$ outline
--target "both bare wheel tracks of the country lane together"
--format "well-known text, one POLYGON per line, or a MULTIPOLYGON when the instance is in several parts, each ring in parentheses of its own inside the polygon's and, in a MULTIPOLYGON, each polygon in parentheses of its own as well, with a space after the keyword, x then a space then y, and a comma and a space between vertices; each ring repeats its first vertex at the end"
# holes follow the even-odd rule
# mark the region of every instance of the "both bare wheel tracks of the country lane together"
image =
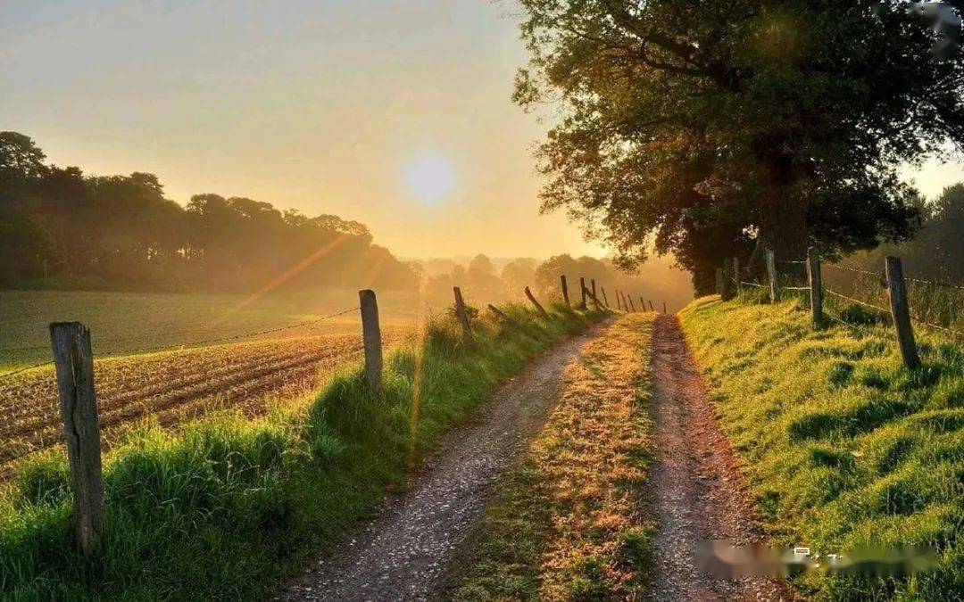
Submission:
MULTIPOLYGON (((471 424, 449 432, 403 495, 351 544, 319 560, 281 592, 284 600, 440 599, 461 573, 491 485, 520 456, 559 398, 562 375, 602 327, 550 350, 501 386, 471 424)), ((701 574, 700 539, 747 544, 760 529, 736 454, 719 431, 676 316, 656 319, 653 340, 658 454, 651 469, 658 522, 655 600, 790 599, 782 583, 725 582, 701 574)))

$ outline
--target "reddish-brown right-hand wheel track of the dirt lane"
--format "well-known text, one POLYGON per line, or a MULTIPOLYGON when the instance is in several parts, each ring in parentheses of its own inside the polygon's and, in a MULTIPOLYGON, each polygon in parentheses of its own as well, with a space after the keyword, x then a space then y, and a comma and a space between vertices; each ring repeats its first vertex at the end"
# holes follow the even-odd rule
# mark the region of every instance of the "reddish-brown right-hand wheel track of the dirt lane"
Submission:
POLYGON ((659 529, 654 600, 791 600, 786 582, 724 581, 700 571, 701 539, 763 540, 736 452, 720 432, 707 387, 676 316, 656 319, 653 378, 657 461, 651 470, 659 529))

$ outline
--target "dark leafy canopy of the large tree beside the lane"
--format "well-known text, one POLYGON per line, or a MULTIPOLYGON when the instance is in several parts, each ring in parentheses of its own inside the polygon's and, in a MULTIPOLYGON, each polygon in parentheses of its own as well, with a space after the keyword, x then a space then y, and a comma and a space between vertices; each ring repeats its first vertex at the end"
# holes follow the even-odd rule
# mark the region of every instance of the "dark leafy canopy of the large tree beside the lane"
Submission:
POLYGON ((964 57, 912 3, 521 0, 515 99, 549 103, 543 209, 622 265, 672 251, 699 274, 911 236, 897 168, 964 144, 964 57))

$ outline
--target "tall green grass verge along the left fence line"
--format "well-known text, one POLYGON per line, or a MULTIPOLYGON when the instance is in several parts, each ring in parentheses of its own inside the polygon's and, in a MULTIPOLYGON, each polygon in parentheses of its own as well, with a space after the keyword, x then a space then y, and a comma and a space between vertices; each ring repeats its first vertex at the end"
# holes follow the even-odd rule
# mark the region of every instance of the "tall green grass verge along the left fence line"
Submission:
POLYGON ((417 345, 388 354, 378 399, 354 369, 261 420, 223 414, 176 434, 130 432, 106 461, 94 562, 76 551, 65 458, 39 458, 0 492, 0 598, 263 596, 376 511, 498 380, 601 317, 507 313, 514 326, 480 320, 471 347, 450 321, 431 322, 417 345))

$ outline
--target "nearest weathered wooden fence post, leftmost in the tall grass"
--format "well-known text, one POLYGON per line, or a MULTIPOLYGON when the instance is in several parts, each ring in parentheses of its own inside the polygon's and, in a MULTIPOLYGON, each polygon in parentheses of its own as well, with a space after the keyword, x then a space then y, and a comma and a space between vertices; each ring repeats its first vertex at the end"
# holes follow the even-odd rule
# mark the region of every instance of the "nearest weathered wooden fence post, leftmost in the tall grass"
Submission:
POLYGON ((50 325, 50 345, 67 440, 77 540, 84 556, 90 558, 100 546, 104 527, 104 481, 91 331, 79 322, 55 322, 50 325))

